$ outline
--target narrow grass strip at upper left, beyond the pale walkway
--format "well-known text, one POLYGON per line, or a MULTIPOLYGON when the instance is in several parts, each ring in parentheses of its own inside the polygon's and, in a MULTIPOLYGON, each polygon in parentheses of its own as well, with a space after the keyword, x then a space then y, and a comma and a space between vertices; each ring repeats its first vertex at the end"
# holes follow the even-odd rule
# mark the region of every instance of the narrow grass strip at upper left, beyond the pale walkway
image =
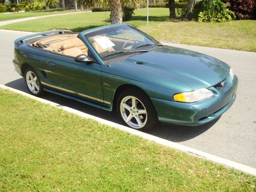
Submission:
POLYGON ((62 8, 58 9, 49 9, 49 10, 42 10, 42 11, 32 11, 32 12, 20 12, 20 13, 1 13, 0 14, 0 21, 12 20, 12 19, 21 19, 27 17, 37 17, 37 16, 44 16, 44 15, 54 15, 54 14, 62 14, 62 13, 69 13, 74 11, 65 11, 63 12, 62 8))

